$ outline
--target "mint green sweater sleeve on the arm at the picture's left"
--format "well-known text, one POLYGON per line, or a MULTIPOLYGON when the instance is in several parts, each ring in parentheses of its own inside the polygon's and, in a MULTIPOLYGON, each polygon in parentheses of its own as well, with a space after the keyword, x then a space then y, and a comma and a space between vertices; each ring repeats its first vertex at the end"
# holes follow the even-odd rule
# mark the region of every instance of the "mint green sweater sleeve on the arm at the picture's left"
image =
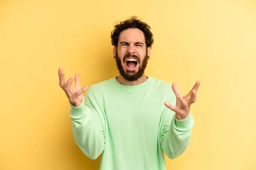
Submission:
POLYGON ((105 147, 104 128, 100 119, 102 113, 96 111, 88 94, 79 107, 71 104, 70 107, 72 132, 76 144, 88 158, 97 159, 105 147))

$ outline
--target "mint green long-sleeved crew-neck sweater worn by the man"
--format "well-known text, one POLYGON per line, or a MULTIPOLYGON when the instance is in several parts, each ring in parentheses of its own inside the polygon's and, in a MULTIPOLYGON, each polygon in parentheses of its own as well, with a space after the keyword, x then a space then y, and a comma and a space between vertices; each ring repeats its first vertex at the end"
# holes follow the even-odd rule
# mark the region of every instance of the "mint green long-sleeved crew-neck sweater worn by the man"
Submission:
POLYGON ((148 77, 121 85, 116 77, 91 85, 81 106, 71 106, 76 144, 100 170, 165 170, 164 154, 180 156, 190 143, 194 119, 183 120, 164 105, 176 104, 172 85, 148 77))

